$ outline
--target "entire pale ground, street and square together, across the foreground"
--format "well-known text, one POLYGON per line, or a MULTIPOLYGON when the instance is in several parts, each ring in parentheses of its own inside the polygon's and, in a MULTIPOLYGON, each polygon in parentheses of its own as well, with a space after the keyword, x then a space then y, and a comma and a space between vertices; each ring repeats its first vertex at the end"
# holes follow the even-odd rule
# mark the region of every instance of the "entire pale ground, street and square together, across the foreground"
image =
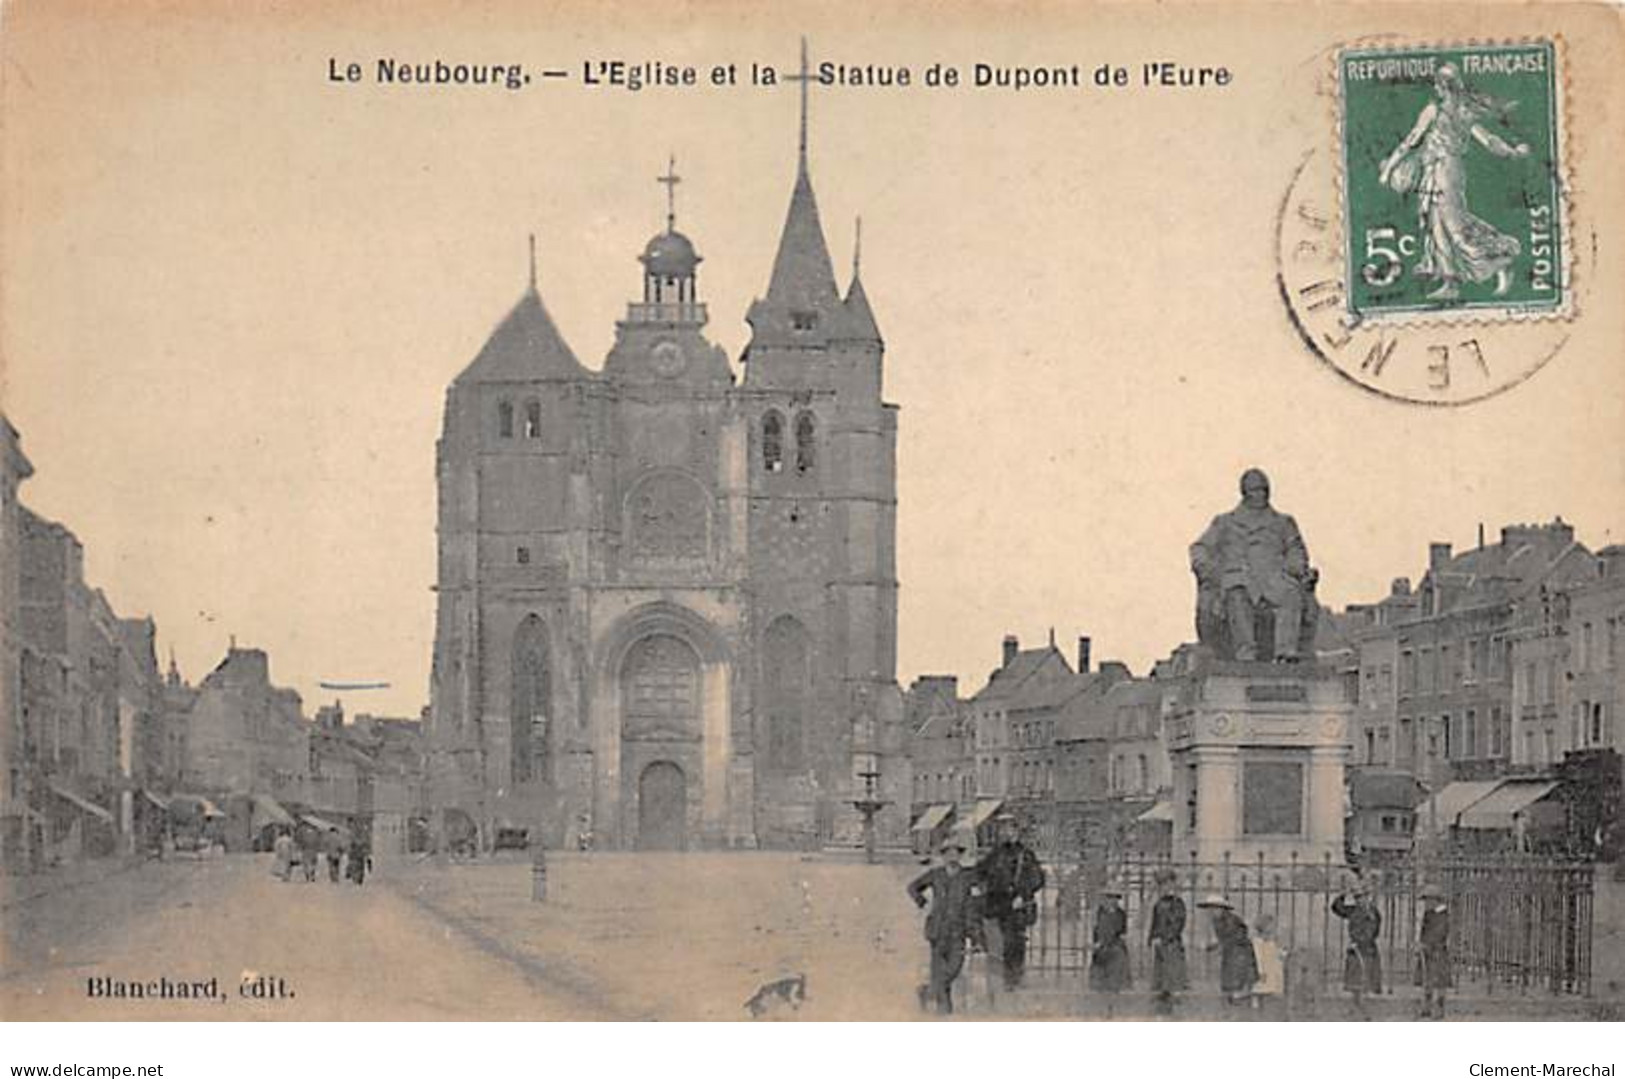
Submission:
MULTIPOLYGON (((913 863, 793 853, 562 853, 548 900, 523 856, 385 863, 364 887, 281 882, 268 856, 179 858, 6 897, 0 1017, 18 1019, 746 1019, 760 986, 803 978, 765 1017, 918 1019, 913 863), (93 998, 89 980, 214 980, 223 999, 93 998), (268 999, 244 996, 257 990, 268 999), (286 991, 286 996, 276 996, 286 991)), ((1458 994, 1453 1019, 1618 1016, 1622 889, 1599 882, 1596 996, 1458 994)), ((1150 1019, 1144 986, 1112 999, 1034 970, 988 999, 985 959, 956 988, 972 1019, 1150 1019)), ((1466 986, 1464 986, 1466 990, 1466 986)), ((1471 990, 1466 990, 1472 993, 1471 990)), ((1482 991, 1480 991, 1482 993, 1482 991)), ((1410 1019, 1409 986, 1373 1001, 1410 1019)), ((1193 991, 1181 1019, 1250 1019, 1193 991)), ((1349 1019, 1337 990, 1302 1019, 1349 1019)))

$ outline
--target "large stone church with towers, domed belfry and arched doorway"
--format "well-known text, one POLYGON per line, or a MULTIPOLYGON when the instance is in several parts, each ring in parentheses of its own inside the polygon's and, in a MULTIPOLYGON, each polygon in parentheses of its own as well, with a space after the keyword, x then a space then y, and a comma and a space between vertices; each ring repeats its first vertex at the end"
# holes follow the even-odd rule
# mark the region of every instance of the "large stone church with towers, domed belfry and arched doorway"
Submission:
POLYGON ((562 340, 533 268, 448 387, 442 842, 811 850, 860 843, 860 804, 879 842, 902 840, 897 408, 856 255, 845 294, 835 281, 806 124, 803 81, 790 210, 738 374, 705 336, 673 169, 603 367, 562 340))

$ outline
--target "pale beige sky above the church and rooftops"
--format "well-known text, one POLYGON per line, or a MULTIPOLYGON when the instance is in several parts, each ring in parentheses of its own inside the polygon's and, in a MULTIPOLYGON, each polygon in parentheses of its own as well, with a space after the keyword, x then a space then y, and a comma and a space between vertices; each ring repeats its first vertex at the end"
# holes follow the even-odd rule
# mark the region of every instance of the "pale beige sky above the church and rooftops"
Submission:
MULTIPOLYGON (((414 715, 434 634, 434 442, 447 384, 541 294, 592 367, 639 296, 684 177, 712 340, 736 359, 795 176, 778 88, 588 88, 624 58, 790 68, 1147 60, 1225 65, 1207 89, 814 88, 811 167, 845 283, 863 280, 900 406, 899 678, 977 687, 999 639, 1094 637, 1142 671, 1191 635, 1186 546, 1274 479, 1341 606, 1503 523, 1625 540, 1625 234, 1614 32, 1565 36, 1578 314, 1514 390, 1464 408, 1365 393, 1295 336, 1274 229, 1334 145, 1329 49, 1474 34, 1480 11, 866 8, 718 3, 10 5, 3 50, 0 401, 23 500, 84 543, 161 660, 202 678, 262 647, 309 708, 414 715), (1019 16, 1019 18, 1017 18, 1019 16), (1454 23, 1453 23, 1454 21, 1454 23), (1261 31, 1261 28, 1268 28, 1261 31), (522 91, 377 86, 379 57, 557 67, 522 91), (359 84, 328 78, 354 60, 359 84), (1607 193, 1614 192, 1614 198, 1607 193), (1597 239, 1601 237, 1601 239, 1597 239)), ((1488 333, 1505 333, 1490 327, 1488 333)), ((1516 341, 1513 343, 1516 348, 1516 341)), ((1069 652, 1069 645, 1068 652, 1069 652)))

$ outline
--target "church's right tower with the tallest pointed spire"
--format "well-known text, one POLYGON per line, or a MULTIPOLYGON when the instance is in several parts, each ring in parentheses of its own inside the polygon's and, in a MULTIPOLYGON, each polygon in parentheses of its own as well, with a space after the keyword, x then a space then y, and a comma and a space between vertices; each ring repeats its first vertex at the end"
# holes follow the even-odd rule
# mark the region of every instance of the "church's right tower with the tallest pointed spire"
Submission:
POLYGON ((897 410, 860 278, 842 297, 808 162, 806 44, 796 179, 767 294, 751 304, 741 410, 751 427, 757 642, 757 830, 852 842, 853 801, 907 829, 897 694, 897 410))

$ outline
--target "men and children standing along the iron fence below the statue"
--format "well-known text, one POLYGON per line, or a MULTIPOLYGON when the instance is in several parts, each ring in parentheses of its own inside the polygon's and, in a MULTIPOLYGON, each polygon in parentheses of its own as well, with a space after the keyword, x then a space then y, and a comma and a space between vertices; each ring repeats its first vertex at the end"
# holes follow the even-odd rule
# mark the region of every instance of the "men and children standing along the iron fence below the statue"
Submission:
MULTIPOLYGON (((920 986, 920 1006, 939 1014, 954 1011, 954 982, 968 951, 985 952, 996 964, 1004 988, 1022 983, 1027 959, 1027 931, 1037 921, 1037 897, 1045 886, 1038 856, 1020 840, 1014 821, 999 819, 998 843, 967 866, 965 845, 949 838, 938 864, 908 884, 916 905, 930 905, 925 936, 931 947, 930 982, 920 986), (930 895, 930 904, 928 897, 930 895)), ((1178 994, 1190 988, 1185 954, 1186 907, 1180 881, 1172 869, 1155 876, 1157 899, 1150 907, 1146 942, 1150 949, 1150 993, 1159 1016, 1172 1016, 1178 994)), ((1089 988, 1115 1011, 1120 993, 1133 985, 1128 949, 1129 920, 1121 886, 1108 882, 1095 908, 1089 954, 1089 988)), ((1422 918, 1417 939, 1417 985, 1424 990, 1422 1017, 1445 1017, 1445 994, 1451 985, 1450 905, 1438 886, 1422 889, 1422 918)), ((1224 895, 1209 894, 1198 904, 1207 912, 1209 942, 1217 952, 1219 990, 1230 1006, 1274 1016, 1287 991, 1287 949, 1276 939, 1276 918, 1259 913, 1248 923, 1224 895)), ((1332 899, 1331 913, 1347 923, 1344 988, 1354 996, 1362 1019, 1370 1017, 1367 998, 1383 991, 1378 941, 1383 916, 1368 881, 1332 899)), ((990 972, 990 982, 993 973, 990 972)))

